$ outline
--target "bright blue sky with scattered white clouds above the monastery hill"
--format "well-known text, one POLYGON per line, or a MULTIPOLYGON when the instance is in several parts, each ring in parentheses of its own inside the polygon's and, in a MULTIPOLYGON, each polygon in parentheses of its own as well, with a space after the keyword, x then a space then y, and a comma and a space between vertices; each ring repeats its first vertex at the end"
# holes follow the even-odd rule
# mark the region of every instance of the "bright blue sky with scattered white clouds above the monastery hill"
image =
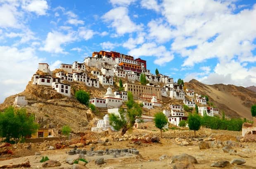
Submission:
POLYGON ((0 0, 0 102, 93 51, 147 60, 176 81, 256 85, 254 0, 0 0))

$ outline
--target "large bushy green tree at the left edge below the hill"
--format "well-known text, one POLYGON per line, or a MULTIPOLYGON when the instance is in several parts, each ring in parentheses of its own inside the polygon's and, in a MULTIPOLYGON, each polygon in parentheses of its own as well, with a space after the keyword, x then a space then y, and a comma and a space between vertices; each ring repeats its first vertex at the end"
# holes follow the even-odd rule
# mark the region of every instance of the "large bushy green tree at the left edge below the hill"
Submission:
POLYGON ((26 109, 14 109, 10 106, 0 113, 0 137, 6 142, 13 138, 17 143, 19 139, 35 133, 39 125, 34 122, 34 116, 26 113, 26 109))

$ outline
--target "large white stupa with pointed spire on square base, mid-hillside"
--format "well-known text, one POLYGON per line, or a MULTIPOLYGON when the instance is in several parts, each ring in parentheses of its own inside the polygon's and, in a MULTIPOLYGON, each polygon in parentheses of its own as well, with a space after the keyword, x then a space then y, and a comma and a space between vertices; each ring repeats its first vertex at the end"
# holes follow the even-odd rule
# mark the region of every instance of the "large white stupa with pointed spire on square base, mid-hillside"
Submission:
POLYGON ((103 99, 106 100, 108 107, 119 107, 123 104, 123 100, 116 98, 110 87, 107 88, 107 93, 104 95, 103 99))

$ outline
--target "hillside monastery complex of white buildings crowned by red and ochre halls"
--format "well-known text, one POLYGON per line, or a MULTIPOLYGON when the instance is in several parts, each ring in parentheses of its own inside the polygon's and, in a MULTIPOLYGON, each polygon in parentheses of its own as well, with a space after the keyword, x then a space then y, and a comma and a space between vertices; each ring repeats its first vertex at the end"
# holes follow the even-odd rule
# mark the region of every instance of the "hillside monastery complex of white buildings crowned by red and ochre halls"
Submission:
MULTIPOLYGON (((92 57, 84 59, 83 63, 73 62, 72 65, 61 64, 59 69, 50 71, 47 63, 39 63, 36 74, 33 75, 33 85, 51 86, 62 95, 71 96, 71 86, 67 83, 78 81, 86 86, 100 88, 109 86, 103 98, 91 98, 90 103, 96 107, 118 109, 123 102, 127 101, 128 91, 133 93, 141 101, 146 109, 161 107, 162 97, 169 97, 173 100, 183 100, 183 104, 189 107, 198 105, 199 113, 203 116, 218 114, 218 109, 206 106, 206 97, 195 94, 193 89, 183 89, 183 85, 173 82, 173 78, 159 74, 156 76, 147 69, 147 61, 140 58, 134 59, 118 52, 93 52, 92 57), (88 71, 89 70, 89 71, 88 71), (38 73, 38 72, 43 72, 38 73), (140 75, 145 74, 147 85, 141 85, 140 75), (115 79, 126 79, 123 84, 123 91, 112 91, 115 79), (136 83, 137 82, 137 83, 136 83), (186 98, 185 98, 186 96, 186 98)), ((23 97, 17 97, 15 104, 24 104, 23 97)), ((169 105, 168 110, 163 113, 168 118, 169 123, 178 125, 180 120, 186 119, 183 105, 169 105)), ((151 119, 151 117, 147 117, 151 119)), ((101 120, 97 127, 108 126, 108 116, 101 120), (104 122, 104 120, 106 122, 104 122)), ((96 127, 96 129, 97 129, 96 127)), ((96 130, 94 129, 94 130, 96 130)))

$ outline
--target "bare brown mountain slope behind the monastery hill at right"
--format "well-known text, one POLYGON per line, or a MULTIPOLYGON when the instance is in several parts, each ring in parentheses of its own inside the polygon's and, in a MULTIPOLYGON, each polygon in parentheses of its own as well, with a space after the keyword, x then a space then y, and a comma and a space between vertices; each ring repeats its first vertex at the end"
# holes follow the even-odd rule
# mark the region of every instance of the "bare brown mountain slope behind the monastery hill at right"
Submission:
POLYGON ((209 96, 209 104, 224 111, 230 118, 244 117, 252 120, 251 106, 256 103, 256 93, 242 86, 214 84, 206 85, 192 79, 185 83, 195 93, 209 96))

